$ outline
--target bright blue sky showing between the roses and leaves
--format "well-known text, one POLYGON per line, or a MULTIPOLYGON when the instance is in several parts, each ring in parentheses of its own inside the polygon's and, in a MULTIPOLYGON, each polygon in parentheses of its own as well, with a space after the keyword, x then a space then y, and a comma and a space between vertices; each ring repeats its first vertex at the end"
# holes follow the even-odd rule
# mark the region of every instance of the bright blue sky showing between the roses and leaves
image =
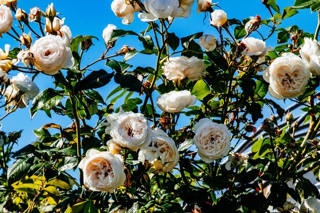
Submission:
MULTIPOLYGON (((29 13, 30 8, 34 6, 38 6, 42 11, 45 11, 48 4, 54 3, 54 6, 57 12, 60 12, 60 17, 65 17, 64 24, 69 26, 73 37, 77 35, 94 35, 99 38, 99 41, 94 40, 94 46, 90 48, 90 50, 85 53, 82 64, 85 65, 91 61, 99 58, 102 53, 105 51, 105 45, 102 38, 103 29, 109 24, 112 23, 118 27, 118 29, 125 30, 133 30, 135 32, 141 32, 148 27, 148 24, 139 20, 136 16, 133 23, 131 25, 123 25, 121 23, 121 18, 116 17, 110 9, 111 1, 82 1, 82 0, 41 0, 41 1, 33 1, 33 0, 19 0, 18 7, 24 9, 29 13)), ((278 0, 279 6, 281 8, 288 7, 293 5, 293 0, 278 0)), ((217 36, 217 32, 213 27, 209 25, 208 17, 204 20, 204 13, 196 14, 196 3, 192 8, 192 15, 190 18, 177 18, 174 20, 174 24, 170 28, 170 32, 175 32, 177 36, 184 37, 197 32, 204 32, 204 34, 213 34, 217 36)), ((243 18, 248 18, 249 16, 260 15, 262 18, 269 18, 270 14, 267 9, 261 4, 261 0, 247 0, 247 1, 225 1, 222 0, 219 3, 221 9, 223 9, 228 18, 237 18, 242 20, 243 18)), ((294 17, 288 18, 283 21, 281 27, 288 27, 291 25, 298 25, 301 29, 304 29, 305 32, 313 33, 317 23, 317 15, 316 13, 310 12, 310 10, 301 10, 299 11, 301 14, 298 14, 294 17)), ((17 22, 14 22, 15 24, 17 22)), ((36 27, 34 24, 33 26, 36 27)), ((15 27, 18 30, 17 26, 15 27)), ((231 30, 233 31, 233 30, 231 30)), ((262 32, 265 30, 261 29, 262 32)), ((19 31, 18 31, 19 32, 19 31)), ((29 32, 29 31, 26 31, 29 32)), ((254 36, 256 38, 260 38, 258 35, 254 36)), ((35 39, 35 36, 33 36, 35 39)), ((6 43, 11 44, 11 49, 14 47, 18 47, 18 43, 15 42, 10 36, 4 35, 3 38, 0 38, 0 48, 4 48, 6 43)), ((267 40, 268 46, 276 45, 276 37, 273 36, 271 39, 267 40)), ((125 37, 120 38, 117 41, 117 45, 113 50, 111 50, 110 54, 113 54, 119 50, 122 45, 128 44, 130 47, 136 48, 137 50, 141 50, 142 45, 136 40, 134 37, 125 37)), ((117 60, 122 60, 121 57, 118 57, 117 60)), ((152 56, 139 55, 135 58, 128 61, 128 63, 133 64, 135 66, 154 66, 155 59, 152 56)), ((104 62, 99 63, 92 67, 93 69, 104 68, 107 72, 111 72, 108 67, 104 66, 104 62)), ((11 72, 12 76, 17 73, 11 72)), ((52 79, 50 76, 39 75, 35 82, 40 87, 40 91, 53 87, 52 79)), ((112 86, 103 87, 99 91, 102 93, 102 96, 105 98, 107 94, 111 91, 112 86)), ((283 101, 279 101, 278 103, 283 103, 283 101)), ((13 114, 7 116, 3 121, 3 131, 19 131, 24 129, 22 133, 22 137, 19 140, 19 144, 16 149, 22 148, 27 144, 31 143, 36 139, 32 130, 38 129, 41 126, 47 123, 56 123, 60 124, 62 127, 66 127, 71 124, 72 121, 67 117, 62 117, 58 115, 54 115, 50 119, 44 112, 40 111, 34 117, 33 120, 30 119, 29 114, 30 106, 24 109, 18 109, 13 114)), ((3 109, 0 110, 0 115, 3 115, 3 109)), ((267 115, 269 116, 269 115, 267 115)), ((93 117, 93 123, 95 123, 95 117, 93 117)), ((180 120, 182 122, 182 120, 180 120)), ((89 122, 90 124, 90 122, 89 122)))

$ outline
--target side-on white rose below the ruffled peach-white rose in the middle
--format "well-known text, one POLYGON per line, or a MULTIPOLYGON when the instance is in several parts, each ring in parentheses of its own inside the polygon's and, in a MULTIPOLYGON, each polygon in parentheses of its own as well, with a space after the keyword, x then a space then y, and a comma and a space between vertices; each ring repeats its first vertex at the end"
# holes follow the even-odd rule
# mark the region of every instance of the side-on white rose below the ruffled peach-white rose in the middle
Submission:
POLYGON ((164 112, 180 112, 187 106, 195 104, 197 98, 190 91, 171 91, 157 98, 156 104, 164 112))

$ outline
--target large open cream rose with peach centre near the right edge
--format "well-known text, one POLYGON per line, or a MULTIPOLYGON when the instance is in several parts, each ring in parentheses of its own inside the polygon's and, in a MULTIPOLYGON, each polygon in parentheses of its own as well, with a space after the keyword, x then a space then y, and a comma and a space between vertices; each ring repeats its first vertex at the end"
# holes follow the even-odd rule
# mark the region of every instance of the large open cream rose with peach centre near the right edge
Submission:
POLYGON ((270 96, 279 100, 300 96, 309 78, 307 62, 293 53, 282 54, 263 72, 263 79, 270 84, 270 96))

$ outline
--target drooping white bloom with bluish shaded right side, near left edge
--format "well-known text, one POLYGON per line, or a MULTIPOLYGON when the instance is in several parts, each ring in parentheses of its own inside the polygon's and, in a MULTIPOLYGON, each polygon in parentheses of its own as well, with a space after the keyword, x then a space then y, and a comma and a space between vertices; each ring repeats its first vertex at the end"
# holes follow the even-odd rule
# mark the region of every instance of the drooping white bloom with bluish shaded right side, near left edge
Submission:
POLYGON ((18 73, 17 76, 12 77, 11 79, 12 86, 15 90, 20 90, 24 92, 22 95, 22 102, 28 106, 30 100, 34 99, 39 93, 39 87, 31 81, 29 76, 18 73))

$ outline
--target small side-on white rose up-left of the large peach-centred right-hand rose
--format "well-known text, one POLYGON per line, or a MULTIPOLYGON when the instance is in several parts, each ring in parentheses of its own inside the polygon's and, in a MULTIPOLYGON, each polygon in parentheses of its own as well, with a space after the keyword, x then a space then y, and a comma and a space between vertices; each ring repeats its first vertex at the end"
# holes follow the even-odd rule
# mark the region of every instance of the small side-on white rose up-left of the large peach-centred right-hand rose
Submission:
POLYGON ((246 49, 242 52, 242 54, 246 54, 247 56, 264 57, 270 50, 272 50, 270 46, 266 47, 265 42, 261 39, 248 37, 242 39, 241 42, 246 45, 246 49))

